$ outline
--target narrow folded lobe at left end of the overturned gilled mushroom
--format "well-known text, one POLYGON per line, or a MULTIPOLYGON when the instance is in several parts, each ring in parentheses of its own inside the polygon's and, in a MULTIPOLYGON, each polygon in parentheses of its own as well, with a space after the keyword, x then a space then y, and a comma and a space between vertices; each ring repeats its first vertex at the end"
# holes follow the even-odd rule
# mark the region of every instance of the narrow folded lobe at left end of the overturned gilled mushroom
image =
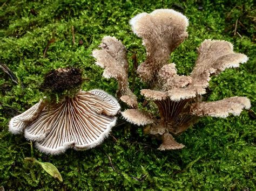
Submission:
POLYGON ((22 114, 11 118, 11 121, 9 122, 9 131, 13 134, 22 133, 26 125, 28 125, 30 121, 33 121, 44 107, 45 102, 40 100, 22 114))

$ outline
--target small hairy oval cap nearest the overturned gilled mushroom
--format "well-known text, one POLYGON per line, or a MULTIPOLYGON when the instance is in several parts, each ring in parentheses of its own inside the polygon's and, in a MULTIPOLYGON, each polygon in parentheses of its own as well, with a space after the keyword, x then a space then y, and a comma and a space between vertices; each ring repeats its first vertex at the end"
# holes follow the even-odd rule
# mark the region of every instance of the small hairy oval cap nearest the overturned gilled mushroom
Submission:
POLYGON ((138 109, 127 109, 121 112, 122 116, 127 122, 135 125, 147 125, 154 122, 150 112, 142 111, 138 109))

